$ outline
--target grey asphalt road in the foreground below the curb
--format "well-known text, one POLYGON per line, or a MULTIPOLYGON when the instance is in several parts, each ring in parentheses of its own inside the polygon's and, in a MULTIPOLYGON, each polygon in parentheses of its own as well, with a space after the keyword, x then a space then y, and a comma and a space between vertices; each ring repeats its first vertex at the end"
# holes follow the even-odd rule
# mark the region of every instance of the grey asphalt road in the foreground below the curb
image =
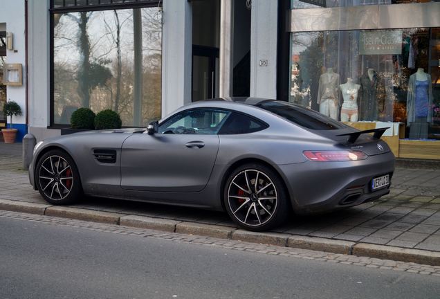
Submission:
POLYGON ((439 298, 440 278, 0 218, 0 298, 439 298))

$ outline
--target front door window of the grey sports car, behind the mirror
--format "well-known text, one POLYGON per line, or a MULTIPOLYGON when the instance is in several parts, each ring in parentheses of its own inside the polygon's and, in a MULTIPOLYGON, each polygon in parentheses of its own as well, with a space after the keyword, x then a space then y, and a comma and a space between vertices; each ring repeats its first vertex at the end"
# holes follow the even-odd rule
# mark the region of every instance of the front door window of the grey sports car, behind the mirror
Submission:
POLYGON ((159 134, 217 134, 230 111, 194 109, 183 111, 159 126, 159 134))

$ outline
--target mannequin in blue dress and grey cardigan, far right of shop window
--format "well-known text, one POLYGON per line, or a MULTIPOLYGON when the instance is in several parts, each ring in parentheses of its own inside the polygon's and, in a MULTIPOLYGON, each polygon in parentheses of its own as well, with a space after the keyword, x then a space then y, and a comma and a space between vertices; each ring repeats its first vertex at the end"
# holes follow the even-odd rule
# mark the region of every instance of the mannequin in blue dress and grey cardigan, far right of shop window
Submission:
POLYGON ((407 126, 410 139, 428 138, 428 123, 432 123, 432 81, 423 68, 410 75, 406 98, 407 126))

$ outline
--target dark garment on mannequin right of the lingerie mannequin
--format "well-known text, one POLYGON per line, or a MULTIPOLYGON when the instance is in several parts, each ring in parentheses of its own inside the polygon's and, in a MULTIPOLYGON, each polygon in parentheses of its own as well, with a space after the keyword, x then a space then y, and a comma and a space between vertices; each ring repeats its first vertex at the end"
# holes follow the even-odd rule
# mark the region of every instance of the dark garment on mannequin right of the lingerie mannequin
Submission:
POLYGON ((370 80, 365 72, 360 77, 359 120, 378 120, 377 93, 379 80, 376 71, 370 80))

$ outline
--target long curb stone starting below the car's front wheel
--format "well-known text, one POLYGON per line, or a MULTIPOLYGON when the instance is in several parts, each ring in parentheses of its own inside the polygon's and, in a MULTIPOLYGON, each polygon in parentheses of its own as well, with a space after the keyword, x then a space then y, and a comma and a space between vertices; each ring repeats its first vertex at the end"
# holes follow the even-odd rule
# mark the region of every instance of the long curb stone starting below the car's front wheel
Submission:
POLYGON ((64 206, 51 206, 49 208, 46 208, 44 215, 101 222, 106 224, 119 224, 120 217, 124 216, 122 214, 117 214, 113 212, 101 212, 96 210, 86 210, 64 206))

